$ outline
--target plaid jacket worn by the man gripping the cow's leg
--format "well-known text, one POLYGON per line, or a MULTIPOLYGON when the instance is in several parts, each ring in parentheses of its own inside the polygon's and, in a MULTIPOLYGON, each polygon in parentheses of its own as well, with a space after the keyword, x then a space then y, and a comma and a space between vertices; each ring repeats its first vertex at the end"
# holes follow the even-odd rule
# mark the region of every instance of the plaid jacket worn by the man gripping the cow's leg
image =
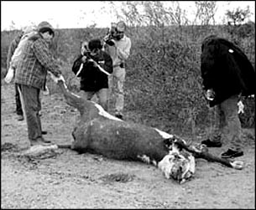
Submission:
POLYGON ((38 33, 24 44, 14 82, 45 90, 47 70, 60 74, 60 67, 50 53, 49 45, 38 33))

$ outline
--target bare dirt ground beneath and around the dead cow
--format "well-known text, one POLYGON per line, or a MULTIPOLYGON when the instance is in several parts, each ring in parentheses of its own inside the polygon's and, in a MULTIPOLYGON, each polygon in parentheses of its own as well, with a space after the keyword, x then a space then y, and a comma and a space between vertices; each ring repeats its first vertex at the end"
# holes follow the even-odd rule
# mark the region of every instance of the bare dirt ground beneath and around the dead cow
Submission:
MULTIPOLYGON (((29 141, 25 121, 16 120, 13 85, 1 89, 1 208, 255 208, 254 130, 244 130, 243 170, 198 159, 195 177, 182 185, 145 163, 69 149, 29 161, 19 155, 29 141)), ((69 144, 79 113, 62 95, 43 95, 42 106, 45 138, 69 144)))

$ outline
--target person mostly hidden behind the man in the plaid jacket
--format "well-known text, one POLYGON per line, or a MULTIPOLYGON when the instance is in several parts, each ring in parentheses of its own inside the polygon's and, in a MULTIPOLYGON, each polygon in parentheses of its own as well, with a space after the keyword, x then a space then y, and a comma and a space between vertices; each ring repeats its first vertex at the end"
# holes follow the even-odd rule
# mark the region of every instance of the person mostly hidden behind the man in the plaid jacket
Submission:
MULTIPOLYGON (((10 67, 10 62, 11 59, 13 57, 14 51, 15 49, 17 49, 18 47, 18 43, 20 41, 20 39, 23 37, 24 32, 19 33, 11 42, 11 44, 9 45, 8 48, 8 55, 7 55, 7 69, 9 69, 10 67)), ((17 120, 24 120, 24 112, 22 110, 22 105, 21 105, 21 101, 20 101, 20 97, 19 97, 19 93, 18 93, 18 85, 15 84, 15 102, 16 102, 16 114, 18 115, 17 120)))

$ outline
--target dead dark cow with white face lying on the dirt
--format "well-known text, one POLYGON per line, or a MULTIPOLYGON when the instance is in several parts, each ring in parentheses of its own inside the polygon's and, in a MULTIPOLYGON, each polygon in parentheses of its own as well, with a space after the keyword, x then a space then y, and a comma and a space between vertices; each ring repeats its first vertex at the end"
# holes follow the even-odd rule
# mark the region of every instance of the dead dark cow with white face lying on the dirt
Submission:
POLYGON ((185 182, 195 173, 195 156, 236 169, 243 162, 212 156, 206 149, 188 146, 178 136, 156 128, 120 120, 101 105, 84 100, 67 89, 63 77, 52 78, 60 86, 68 105, 80 111, 81 119, 72 136, 71 149, 92 152, 118 160, 145 161, 158 166, 166 178, 185 182))

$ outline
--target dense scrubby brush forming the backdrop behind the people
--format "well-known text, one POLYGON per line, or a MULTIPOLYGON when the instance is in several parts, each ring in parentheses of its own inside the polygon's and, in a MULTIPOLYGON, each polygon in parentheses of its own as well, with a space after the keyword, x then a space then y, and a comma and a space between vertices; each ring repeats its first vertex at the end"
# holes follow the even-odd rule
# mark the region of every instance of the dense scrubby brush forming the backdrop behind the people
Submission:
MULTIPOLYGON (((240 39, 240 46, 254 65, 254 30, 240 39)), ((57 29, 52 49, 63 66, 69 88, 78 91, 71 66, 80 53, 82 40, 103 38, 107 28, 57 29)), ((193 135, 210 123, 208 106, 202 96, 200 54, 201 42, 209 34, 223 38, 232 36, 223 26, 133 27, 128 28, 132 40, 125 82, 125 110, 136 113, 133 120, 193 135)), ((13 32, 2 32, 2 66, 13 32), (12 34, 12 35, 11 35, 12 34)), ((49 79, 51 92, 58 91, 49 79)), ((254 123, 253 102, 240 116, 243 127, 254 123)), ((132 117, 132 116, 131 116, 132 117)))

